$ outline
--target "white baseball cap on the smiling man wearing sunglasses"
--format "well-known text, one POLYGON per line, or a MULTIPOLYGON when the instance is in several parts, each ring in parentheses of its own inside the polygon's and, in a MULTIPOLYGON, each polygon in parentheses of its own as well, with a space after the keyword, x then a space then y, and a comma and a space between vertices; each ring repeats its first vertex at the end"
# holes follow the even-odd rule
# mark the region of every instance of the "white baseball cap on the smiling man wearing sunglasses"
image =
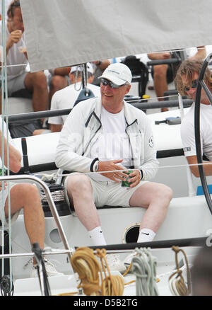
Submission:
POLYGON ((110 64, 99 79, 104 78, 120 86, 126 82, 131 83, 131 77, 129 67, 127 67, 126 64, 117 62, 115 64, 110 64))

